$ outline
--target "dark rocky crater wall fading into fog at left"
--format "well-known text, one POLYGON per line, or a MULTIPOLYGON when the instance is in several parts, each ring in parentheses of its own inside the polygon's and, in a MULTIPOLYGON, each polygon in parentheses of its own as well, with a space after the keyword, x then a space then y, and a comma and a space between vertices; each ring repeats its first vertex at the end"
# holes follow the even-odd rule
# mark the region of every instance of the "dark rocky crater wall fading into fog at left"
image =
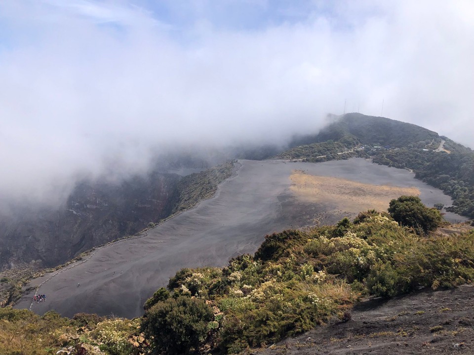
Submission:
POLYGON ((171 213, 180 178, 152 173, 120 184, 82 182, 59 208, 0 217, 0 267, 34 260, 41 267, 55 266, 132 235, 171 213))

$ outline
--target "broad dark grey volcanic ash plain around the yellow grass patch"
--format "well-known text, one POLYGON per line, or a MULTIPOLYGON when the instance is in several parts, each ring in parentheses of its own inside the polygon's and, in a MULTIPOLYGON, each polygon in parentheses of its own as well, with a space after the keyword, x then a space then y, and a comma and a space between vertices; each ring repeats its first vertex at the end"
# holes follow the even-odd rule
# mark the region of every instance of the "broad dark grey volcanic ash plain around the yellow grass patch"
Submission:
MULTIPOLYGON (((316 164, 239 162, 238 175, 224 181, 216 196, 197 208, 150 230, 146 237, 98 249, 84 263, 33 280, 29 286, 44 282, 38 293, 46 294, 47 301, 34 303, 32 311, 43 314, 54 309, 67 317, 78 312, 137 317, 143 314, 146 299, 183 267, 224 266, 230 257, 253 253, 266 234, 314 224, 316 216, 321 224, 330 224, 359 212, 298 201, 289 191, 289 176, 296 169, 358 182, 415 186, 429 206, 452 203, 449 196, 406 170, 361 158, 316 164), (324 213, 325 209, 336 209, 337 213, 324 213)), ((453 214, 447 217, 464 220, 453 214)), ((15 307, 29 308, 34 293, 25 295, 15 307)))

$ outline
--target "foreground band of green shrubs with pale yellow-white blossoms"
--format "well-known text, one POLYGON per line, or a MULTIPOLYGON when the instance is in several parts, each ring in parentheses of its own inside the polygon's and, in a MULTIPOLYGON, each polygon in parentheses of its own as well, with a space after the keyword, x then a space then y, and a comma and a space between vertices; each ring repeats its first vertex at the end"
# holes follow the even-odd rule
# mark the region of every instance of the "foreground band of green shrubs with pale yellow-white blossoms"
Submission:
POLYGON ((471 283, 473 245, 473 231, 420 236, 388 213, 367 211, 268 235, 253 256, 224 268, 182 269, 134 320, 0 309, 0 354, 237 353, 348 320, 361 295, 471 283))

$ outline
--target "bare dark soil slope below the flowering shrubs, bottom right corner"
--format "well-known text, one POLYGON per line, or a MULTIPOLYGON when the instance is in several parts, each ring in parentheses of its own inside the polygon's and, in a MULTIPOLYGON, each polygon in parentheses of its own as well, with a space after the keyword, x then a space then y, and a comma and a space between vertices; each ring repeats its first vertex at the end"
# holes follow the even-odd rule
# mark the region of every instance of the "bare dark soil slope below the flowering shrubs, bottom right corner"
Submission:
POLYGON ((474 354, 474 286, 422 290, 361 302, 347 322, 333 322, 259 355, 474 354))

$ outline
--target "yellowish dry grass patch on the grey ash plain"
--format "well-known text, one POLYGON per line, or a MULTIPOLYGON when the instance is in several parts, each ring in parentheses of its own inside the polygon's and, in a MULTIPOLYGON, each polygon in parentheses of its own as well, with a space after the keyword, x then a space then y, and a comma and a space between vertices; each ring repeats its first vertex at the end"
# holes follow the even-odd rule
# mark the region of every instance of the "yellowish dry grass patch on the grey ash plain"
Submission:
POLYGON ((389 202, 401 195, 418 196, 416 187, 374 185, 344 178, 309 175, 293 171, 290 190, 302 202, 336 206, 334 210, 357 213, 375 209, 386 211, 389 202))

